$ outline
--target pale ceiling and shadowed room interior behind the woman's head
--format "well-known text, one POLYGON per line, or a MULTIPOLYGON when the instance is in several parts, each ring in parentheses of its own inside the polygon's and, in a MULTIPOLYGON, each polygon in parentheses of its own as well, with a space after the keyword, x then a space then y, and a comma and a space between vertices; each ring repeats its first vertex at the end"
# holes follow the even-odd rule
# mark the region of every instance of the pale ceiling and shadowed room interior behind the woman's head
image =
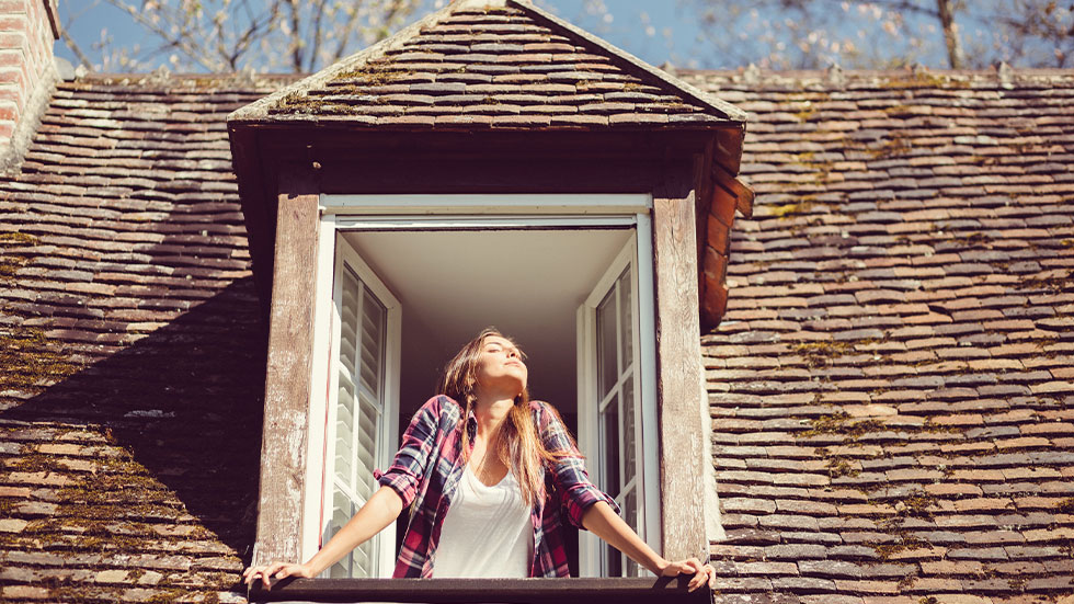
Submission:
POLYGON ((402 305, 400 429, 443 366, 495 326, 527 354, 533 398, 576 429, 578 307, 632 229, 350 231, 402 305))

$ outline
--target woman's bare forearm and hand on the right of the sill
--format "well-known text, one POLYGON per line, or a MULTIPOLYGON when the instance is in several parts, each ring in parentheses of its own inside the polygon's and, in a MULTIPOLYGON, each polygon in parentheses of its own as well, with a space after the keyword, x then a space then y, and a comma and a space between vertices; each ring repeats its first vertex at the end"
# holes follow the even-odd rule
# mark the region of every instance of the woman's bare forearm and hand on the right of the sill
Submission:
POLYGON ((598 501, 586 508, 582 515, 582 525, 586 531, 601 537, 619 551, 626 554, 631 560, 649 569, 656 577, 677 577, 679 574, 693 574, 688 589, 694 591, 709 583, 710 589, 716 588, 716 569, 711 565, 702 565, 697 558, 672 562, 660 556, 649 544, 641 540, 641 537, 624 522, 612 508, 598 501))

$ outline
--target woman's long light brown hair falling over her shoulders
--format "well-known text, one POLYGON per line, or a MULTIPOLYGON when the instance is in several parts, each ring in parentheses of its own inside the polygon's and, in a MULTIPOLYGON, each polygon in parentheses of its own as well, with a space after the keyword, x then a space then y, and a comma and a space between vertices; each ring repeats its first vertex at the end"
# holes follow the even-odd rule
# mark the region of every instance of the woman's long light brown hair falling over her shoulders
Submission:
MULTIPOLYGON (((498 337, 511 341, 495 328, 485 328, 477 338, 470 340, 444 368, 437 392, 454 399, 462 408, 462 421, 469 417, 477 402, 478 356, 488 338, 498 337)), ((513 343, 513 342, 512 342, 513 343)), ((519 353, 521 354, 521 353, 519 353)), ((555 412, 555 411, 553 411, 555 412)), ((505 466, 511 468, 522 486, 523 499, 533 504, 545 495, 545 463, 555 461, 571 452, 551 452, 545 448, 529 409, 529 390, 523 388, 515 397, 515 403, 501 424, 494 440, 489 443, 492 452, 505 466)), ((470 433, 462 429, 462 461, 470 455, 470 433)))

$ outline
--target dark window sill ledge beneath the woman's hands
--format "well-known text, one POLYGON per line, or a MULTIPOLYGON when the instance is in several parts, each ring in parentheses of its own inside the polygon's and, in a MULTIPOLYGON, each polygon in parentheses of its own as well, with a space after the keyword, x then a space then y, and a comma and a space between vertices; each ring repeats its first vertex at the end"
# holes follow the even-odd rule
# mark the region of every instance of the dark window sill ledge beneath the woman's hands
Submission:
POLYGON ((676 579, 298 579, 265 591, 251 602, 427 602, 503 604, 707 604, 712 592, 686 591, 676 579))

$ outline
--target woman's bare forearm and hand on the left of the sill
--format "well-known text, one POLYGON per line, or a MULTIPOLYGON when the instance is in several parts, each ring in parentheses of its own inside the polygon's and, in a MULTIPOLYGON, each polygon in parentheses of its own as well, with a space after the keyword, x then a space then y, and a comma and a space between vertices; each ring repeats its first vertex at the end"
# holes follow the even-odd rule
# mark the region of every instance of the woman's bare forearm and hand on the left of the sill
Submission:
POLYGON ((305 565, 288 562, 270 562, 263 566, 250 567, 242 573, 248 585, 259 578, 265 589, 271 588, 271 580, 287 577, 317 577, 324 569, 334 565, 352 549, 373 538, 385 529, 402 513, 402 498, 391 487, 380 487, 373 493, 369 501, 354 514, 343 528, 340 529, 312 558, 305 565))

